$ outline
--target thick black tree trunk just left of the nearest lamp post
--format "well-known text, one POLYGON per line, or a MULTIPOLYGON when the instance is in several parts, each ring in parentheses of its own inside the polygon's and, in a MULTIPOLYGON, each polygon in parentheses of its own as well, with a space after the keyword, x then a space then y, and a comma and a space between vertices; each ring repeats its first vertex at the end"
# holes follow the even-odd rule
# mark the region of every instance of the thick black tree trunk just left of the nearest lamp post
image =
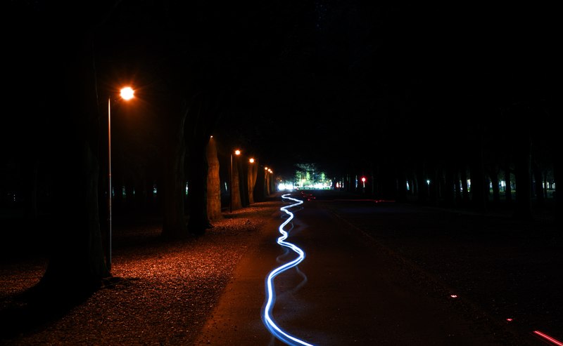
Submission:
MULTIPOLYGON (((51 215, 45 227, 50 235, 49 264, 36 288, 68 300, 83 298, 96 290, 103 278, 110 277, 110 272, 103 257, 99 227, 99 160, 92 150, 97 147, 96 131, 100 130, 98 114, 93 112, 96 93, 91 47, 77 47, 69 42, 63 48, 78 51, 72 50, 73 54, 68 55, 61 52, 61 60, 56 63, 63 66, 49 66, 58 74, 51 81, 64 83, 51 89, 64 95, 65 107, 53 105, 51 109, 57 109, 57 114, 42 114, 50 118, 52 126, 44 129, 50 140, 41 144, 52 145, 44 152, 51 155, 46 162, 51 165, 53 191, 51 215), (80 60, 63 59, 77 56, 77 52, 80 60), (71 186, 73 193, 61 188, 65 186, 71 186)), ((60 95, 51 96, 53 102, 61 101, 60 95)))

